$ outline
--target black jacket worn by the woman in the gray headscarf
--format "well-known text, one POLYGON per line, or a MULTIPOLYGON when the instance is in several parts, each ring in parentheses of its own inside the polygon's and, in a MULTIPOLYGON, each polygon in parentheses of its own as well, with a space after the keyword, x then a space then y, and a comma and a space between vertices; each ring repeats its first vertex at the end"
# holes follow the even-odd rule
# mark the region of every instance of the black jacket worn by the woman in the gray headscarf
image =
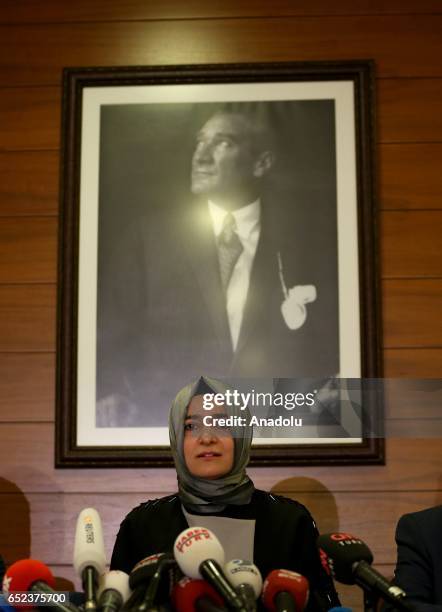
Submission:
MULTIPOLYGON (((302 504, 255 490, 250 504, 228 506, 217 516, 255 519, 253 562, 263 578, 273 569, 296 571, 309 580, 310 591, 323 598, 326 609, 340 605, 320 563, 315 522, 302 504)), ((187 527, 177 495, 140 504, 121 523, 111 569, 130 573, 141 559, 172 552, 175 538, 187 527)), ((314 597, 310 602, 308 610, 319 609, 314 597)))

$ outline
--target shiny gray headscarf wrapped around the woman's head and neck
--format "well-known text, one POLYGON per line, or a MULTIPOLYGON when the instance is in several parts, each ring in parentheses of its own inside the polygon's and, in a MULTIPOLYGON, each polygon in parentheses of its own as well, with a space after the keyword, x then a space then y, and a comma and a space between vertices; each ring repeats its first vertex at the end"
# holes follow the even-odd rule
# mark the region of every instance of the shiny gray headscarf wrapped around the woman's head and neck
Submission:
MULTIPOLYGON (((192 398, 204 393, 225 394, 227 389, 220 381, 204 376, 181 389, 172 402, 169 413, 170 446, 178 475, 180 498, 190 512, 209 514, 222 511, 228 504, 248 504, 254 491, 253 482, 246 474, 253 435, 250 426, 231 428, 235 452, 232 470, 225 476, 214 480, 193 476, 184 459, 184 421, 192 398)), ((225 411, 229 416, 250 418, 248 408, 240 410, 239 406, 226 405, 225 411)))

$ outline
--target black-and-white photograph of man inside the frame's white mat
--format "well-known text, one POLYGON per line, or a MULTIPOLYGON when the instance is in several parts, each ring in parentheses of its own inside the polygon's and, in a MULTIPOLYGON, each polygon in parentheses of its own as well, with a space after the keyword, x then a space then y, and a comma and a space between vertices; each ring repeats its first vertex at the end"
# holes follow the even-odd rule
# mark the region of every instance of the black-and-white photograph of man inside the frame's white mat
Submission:
POLYGON ((109 105, 100 151, 98 426, 339 372, 333 101, 109 105))

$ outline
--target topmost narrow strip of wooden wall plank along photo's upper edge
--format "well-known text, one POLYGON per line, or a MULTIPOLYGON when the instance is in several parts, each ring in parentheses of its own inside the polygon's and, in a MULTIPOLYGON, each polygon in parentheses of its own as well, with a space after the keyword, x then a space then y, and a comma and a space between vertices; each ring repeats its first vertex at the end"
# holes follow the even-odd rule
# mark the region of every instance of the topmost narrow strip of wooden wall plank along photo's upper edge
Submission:
POLYGON ((203 2, 163 0, 76 0, 72 3, 46 0, 33 10, 32 0, 2 0, 0 23, 38 23, 70 21, 134 21, 140 19, 191 19, 220 17, 264 17, 275 15, 382 15, 441 13, 439 0, 223 0, 203 2))

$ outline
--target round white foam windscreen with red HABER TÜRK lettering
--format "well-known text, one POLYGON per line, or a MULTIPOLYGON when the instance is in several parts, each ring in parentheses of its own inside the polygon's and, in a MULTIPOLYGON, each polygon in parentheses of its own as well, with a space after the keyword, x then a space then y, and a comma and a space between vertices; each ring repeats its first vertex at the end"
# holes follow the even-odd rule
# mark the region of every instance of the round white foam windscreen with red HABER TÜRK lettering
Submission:
POLYGON ((214 559, 221 567, 225 561, 220 541, 206 527, 189 527, 182 531, 175 540, 173 553, 183 574, 190 578, 202 578, 199 567, 207 559, 214 559))

